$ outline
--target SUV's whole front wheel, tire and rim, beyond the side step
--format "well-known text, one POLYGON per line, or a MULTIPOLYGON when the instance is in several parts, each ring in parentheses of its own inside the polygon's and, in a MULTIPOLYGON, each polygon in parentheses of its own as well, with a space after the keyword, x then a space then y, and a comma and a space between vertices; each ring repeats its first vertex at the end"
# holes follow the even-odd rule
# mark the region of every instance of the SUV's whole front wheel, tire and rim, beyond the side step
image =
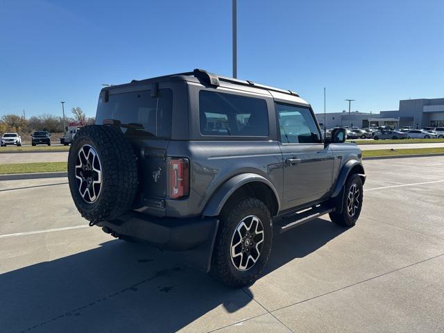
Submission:
POLYGON ((330 213, 330 219, 336 224, 352 227, 361 214, 364 198, 361 177, 357 173, 345 182, 343 193, 342 212, 330 213))

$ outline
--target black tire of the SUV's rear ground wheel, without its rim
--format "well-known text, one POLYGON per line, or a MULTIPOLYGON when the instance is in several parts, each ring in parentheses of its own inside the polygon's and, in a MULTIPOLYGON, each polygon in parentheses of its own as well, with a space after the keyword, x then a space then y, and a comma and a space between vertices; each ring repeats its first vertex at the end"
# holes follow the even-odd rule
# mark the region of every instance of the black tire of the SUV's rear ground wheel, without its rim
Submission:
POLYGON ((271 214, 266 205, 257 198, 246 197, 232 205, 225 205, 220 215, 219 230, 214 244, 210 275, 230 287, 246 287, 253 284, 268 262, 273 241, 271 214), (246 271, 234 266, 231 257, 231 246, 234 232, 239 223, 248 216, 257 216, 262 222, 264 241, 260 255, 253 266, 246 271))

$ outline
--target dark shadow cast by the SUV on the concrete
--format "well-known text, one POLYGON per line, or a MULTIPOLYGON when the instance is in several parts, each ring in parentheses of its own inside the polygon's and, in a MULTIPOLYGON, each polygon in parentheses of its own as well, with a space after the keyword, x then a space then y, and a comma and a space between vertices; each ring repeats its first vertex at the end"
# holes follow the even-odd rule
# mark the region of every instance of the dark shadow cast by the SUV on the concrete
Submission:
MULTIPOLYGON (((316 219, 275 237, 265 274, 344 230, 316 219)), ((110 240, 0 275, 1 331, 207 332, 264 313, 248 293, 180 265, 173 253, 110 240)))

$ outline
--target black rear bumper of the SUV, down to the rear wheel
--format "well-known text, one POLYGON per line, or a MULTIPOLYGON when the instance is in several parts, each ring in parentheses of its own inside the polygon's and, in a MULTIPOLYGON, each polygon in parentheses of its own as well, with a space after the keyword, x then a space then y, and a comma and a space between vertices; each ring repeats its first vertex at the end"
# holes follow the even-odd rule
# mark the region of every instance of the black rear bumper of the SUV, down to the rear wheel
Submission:
POLYGON ((184 262, 210 271, 214 239, 219 226, 216 217, 193 219, 160 218, 139 212, 130 212, 118 220, 97 223, 108 228, 114 236, 126 235, 160 248, 181 251, 184 262))

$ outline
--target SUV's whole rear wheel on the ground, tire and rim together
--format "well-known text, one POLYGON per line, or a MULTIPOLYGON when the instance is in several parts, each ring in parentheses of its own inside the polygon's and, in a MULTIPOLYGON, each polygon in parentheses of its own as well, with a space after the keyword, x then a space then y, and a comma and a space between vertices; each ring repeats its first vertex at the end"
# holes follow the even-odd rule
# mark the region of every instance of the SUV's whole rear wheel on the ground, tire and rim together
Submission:
POLYGON ((230 287, 253 284, 268 262, 273 239, 271 214, 257 198, 224 207, 214 243, 210 275, 230 287))

